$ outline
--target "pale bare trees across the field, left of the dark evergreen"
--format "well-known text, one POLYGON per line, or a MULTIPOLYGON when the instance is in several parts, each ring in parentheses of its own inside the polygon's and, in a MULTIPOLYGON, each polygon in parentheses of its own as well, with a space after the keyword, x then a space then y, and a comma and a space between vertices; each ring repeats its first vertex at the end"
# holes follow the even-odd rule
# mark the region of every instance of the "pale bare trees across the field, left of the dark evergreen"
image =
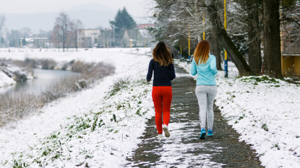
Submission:
POLYGON ((64 11, 60 11, 55 18, 50 41, 55 47, 62 47, 63 51, 65 48, 68 50, 69 46, 74 46, 77 51, 78 30, 82 28, 83 24, 79 19, 71 20, 64 11))

